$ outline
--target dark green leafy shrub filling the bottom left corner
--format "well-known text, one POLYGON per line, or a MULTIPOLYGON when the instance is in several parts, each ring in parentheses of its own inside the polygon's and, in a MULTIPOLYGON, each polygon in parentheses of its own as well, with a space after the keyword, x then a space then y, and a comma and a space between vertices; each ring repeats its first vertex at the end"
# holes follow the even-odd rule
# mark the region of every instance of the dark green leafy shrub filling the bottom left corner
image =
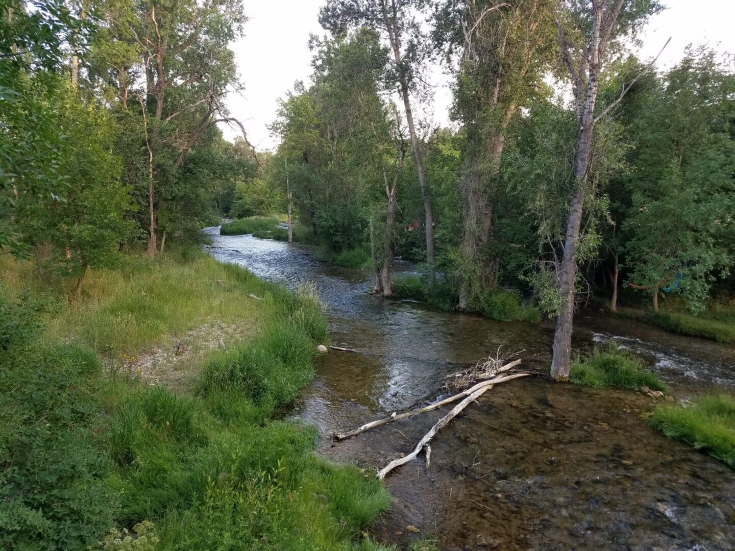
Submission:
POLYGON ((0 301, 0 547, 84 548, 112 525, 112 464, 101 453, 101 364, 78 345, 42 345, 38 313, 0 301))

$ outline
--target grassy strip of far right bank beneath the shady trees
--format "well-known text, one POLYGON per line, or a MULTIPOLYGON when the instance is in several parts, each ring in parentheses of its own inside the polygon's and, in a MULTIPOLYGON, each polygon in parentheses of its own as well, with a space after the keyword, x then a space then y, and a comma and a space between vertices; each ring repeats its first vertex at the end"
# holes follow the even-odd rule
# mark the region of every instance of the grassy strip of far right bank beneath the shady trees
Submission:
POLYGON ((699 336, 717 342, 735 344, 735 307, 712 304, 702 314, 695 316, 673 306, 658 313, 638 309, 620 309, 617 315, 656 325, 681 335, 699 336))

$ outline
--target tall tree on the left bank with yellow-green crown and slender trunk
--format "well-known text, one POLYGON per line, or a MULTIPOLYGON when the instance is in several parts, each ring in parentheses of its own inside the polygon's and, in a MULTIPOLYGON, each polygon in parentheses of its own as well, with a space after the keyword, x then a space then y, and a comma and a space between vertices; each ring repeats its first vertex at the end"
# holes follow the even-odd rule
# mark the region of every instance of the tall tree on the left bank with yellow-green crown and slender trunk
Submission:
POLYGON ((124 109, 135 109, 131 96, 140 107, 148 253, 154 256, 165 187, 176 180, 187 155, 218 123, 234 124, 245 134, 223 97, 240 87, 227 46, 246 18, 238 0, 108 0, 101 9, 108 41, 98 42, 97 73, 107 76, 104 82, 124 109), (144 86, 131 90, 139 75, 144 86))

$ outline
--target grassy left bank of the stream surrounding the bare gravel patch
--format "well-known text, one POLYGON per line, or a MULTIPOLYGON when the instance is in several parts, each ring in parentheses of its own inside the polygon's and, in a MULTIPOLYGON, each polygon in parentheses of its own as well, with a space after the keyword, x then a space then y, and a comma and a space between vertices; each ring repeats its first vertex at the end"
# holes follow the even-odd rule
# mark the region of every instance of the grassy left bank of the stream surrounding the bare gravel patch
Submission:
POLYGON ((54 300, 63 285, 34 281, 26 267, 11 282, 4 264, 0 384, 12 392, 0 395, 9 458, 0 548, 98 548, 111 527, 143 521, 156 550, 358 544, 388 506, 384 487, 317 458, 313 428, 276 419, 313 376, 327 331, 318 300, 201 253, 129 261, 121 273, 91 273, 73 306, 54 300), (18 281, 35 290, 19 295, 18 281), (210 350, 187 392, 104 368, 176 331, 236 317, 254 329, 210 350), (111 347, 100 320, 124 322, 111 347))

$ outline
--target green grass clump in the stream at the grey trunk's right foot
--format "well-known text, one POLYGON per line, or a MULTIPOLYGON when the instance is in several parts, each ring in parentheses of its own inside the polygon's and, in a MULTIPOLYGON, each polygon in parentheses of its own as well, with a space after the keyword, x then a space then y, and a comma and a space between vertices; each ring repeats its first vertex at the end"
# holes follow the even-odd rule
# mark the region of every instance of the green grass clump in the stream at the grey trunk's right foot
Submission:
POLYGON ((648 386, 651 390, 667 391, 667 386, 645 369, 643 362, 631 353, 620 350, 614 344, 596 348, 592 355, 578 359, 572 366, 570 382, 598 389, 617 388, 638 390, 648 386))

